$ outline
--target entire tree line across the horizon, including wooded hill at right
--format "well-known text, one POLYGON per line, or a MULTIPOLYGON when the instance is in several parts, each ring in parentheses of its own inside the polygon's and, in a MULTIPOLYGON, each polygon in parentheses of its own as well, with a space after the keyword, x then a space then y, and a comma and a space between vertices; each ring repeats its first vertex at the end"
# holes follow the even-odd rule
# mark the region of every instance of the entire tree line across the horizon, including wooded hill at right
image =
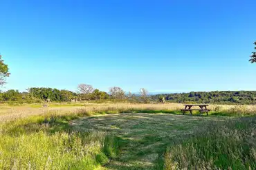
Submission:
POLYGON ((189 92, 174 94, 149 95, 147 89, 140 89, 139 94, 125 92, 120 87, 111 87, 109 92, 93 89, 91 85, 78 85, 77 92, 66 89, 53 89, 46 87, 33 87, 27 92, 10 89, 0 93, 0 101, 17 103, 42 103, 42 102, 75 102, 89 100, 113 100, 129 103, 210 103, 210 104, 241 104, 255 105, 256 91, 214 91, 214 92, 189 92))

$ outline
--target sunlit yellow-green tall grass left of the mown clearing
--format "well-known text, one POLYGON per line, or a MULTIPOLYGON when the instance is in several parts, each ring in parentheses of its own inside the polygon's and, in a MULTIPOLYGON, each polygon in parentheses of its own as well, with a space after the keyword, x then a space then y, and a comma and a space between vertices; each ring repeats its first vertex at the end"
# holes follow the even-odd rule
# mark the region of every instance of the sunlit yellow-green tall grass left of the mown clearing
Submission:
POLYGON ((69 120, 89 116, 49 113, 0 125, 0 169, 96 169, 116 157, 118 138, 71 130, 69 120))

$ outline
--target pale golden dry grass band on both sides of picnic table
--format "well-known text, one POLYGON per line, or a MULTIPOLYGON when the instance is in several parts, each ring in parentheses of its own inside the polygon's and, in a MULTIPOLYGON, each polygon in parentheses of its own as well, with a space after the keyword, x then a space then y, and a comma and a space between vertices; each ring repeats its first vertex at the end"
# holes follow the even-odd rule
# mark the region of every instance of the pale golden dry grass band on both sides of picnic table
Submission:
MULTIPOLYGON (((42 105, 0 105, 0 123, 27 118, 29 116, 42 116, 44 114, 55 113, 58 115, 77 114, 81 109, 87 112, 102 112, 107 110, 163 110, 178 111, 182 109, 183 104, 129 104, 129 103, 75 103, 75 104, 51 104, 44 108, 42 105)), ((255 114, 255 105, 210 105, 214 114, 255 114)))

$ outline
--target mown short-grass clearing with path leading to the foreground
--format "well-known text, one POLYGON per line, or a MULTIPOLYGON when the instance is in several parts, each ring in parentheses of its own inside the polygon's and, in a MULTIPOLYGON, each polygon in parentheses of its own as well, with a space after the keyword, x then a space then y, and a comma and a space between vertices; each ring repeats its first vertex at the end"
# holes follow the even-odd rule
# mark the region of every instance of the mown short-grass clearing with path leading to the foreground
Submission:
POLYGON ((120 155, 104 169, 163 169, 163 155, 172 140, 222 119, 174 114, 109 114, 73 120, 71 125, 79 131, 106 131, 122 139, 120 155))

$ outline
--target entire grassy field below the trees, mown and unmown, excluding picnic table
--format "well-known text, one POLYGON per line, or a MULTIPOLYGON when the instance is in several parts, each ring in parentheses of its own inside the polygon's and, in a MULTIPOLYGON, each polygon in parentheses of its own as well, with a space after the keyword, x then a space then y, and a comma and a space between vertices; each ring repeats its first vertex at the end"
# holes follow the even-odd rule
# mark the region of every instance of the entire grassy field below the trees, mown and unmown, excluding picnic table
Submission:
POLYGON ((255 106, 211 105, 210 116, 181 108, 1 105, 0 169, 255 169, 255 106))

